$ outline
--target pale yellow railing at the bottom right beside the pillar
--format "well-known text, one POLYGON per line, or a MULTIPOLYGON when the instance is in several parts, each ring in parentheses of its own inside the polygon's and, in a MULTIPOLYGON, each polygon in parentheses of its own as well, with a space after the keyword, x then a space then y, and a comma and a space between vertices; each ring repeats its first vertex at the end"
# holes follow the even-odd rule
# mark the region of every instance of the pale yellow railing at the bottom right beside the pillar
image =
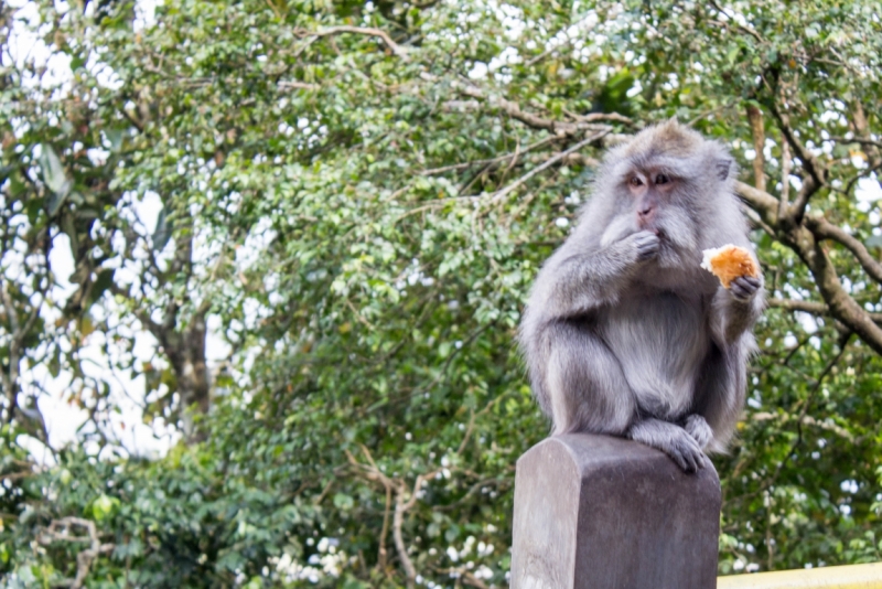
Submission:
POLYGON ((717 579, 717 589, 882 589, 882 563, 734 575, 717 579))

